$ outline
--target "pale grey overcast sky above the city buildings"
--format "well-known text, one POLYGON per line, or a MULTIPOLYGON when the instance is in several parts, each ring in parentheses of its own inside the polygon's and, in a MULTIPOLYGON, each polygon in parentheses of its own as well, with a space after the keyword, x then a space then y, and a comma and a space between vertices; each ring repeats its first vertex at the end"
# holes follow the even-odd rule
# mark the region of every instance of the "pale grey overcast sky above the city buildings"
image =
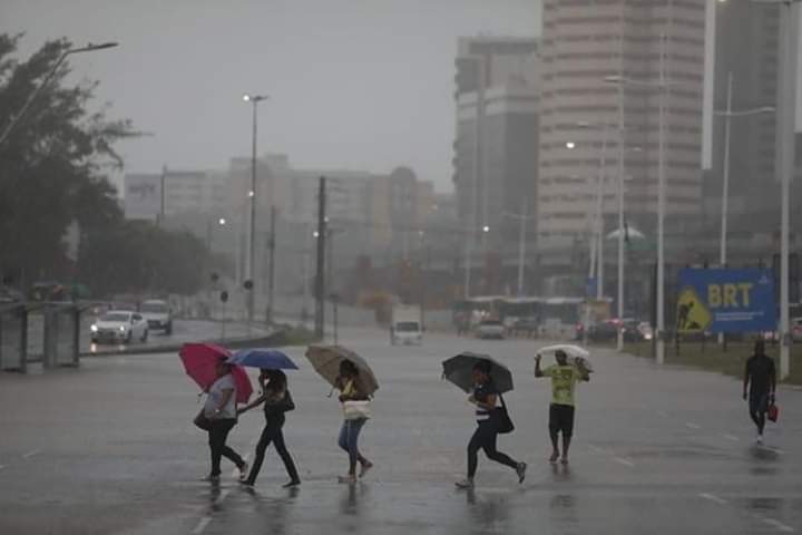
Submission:
POLYGON ((154 137, 127 172, 225 168, 251 147, 244 91, 264 93, 260 153, 299 167, 412 166, 451 188, 453 58, 463 35, 535 36, 539 0, 0 0, 28 54, 50 38, 117 40, 75 56, 100 101, 154 137))

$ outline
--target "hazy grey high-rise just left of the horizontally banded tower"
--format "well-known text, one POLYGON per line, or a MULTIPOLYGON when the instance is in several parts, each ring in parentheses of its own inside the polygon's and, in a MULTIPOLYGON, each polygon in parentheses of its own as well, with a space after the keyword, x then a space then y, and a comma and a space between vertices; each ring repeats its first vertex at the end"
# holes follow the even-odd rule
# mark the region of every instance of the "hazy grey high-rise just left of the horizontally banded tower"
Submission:
MULTIPOLYGON (((476 242, 472 264, 490 253, 517 262, 518 223, 509 215, 536 213, 538 48, 530 38, 458 41, 453 182, 464 239, 472 232, 476 242)), ((472 293, 499 291, 477 286, 472 293)))

